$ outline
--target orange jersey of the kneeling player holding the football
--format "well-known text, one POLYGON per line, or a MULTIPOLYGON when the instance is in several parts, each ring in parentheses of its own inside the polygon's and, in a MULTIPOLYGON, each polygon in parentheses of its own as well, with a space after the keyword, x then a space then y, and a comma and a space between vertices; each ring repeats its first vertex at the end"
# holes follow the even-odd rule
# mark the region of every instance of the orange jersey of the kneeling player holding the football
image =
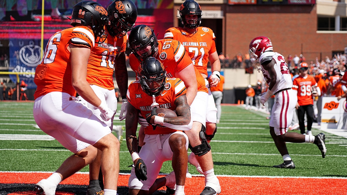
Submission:
MULTIPOLYGON (((166 78, 166 84, 164 91, 161 95, 155 97, 155 102, 159 104, 160 108, 168 108, 170 110, 176 110, 175 100, 181 95, 185 95, 187 92, 186 86, 179 78, 166 78)), ((146 114, 152 111, 151 104, 153 103, 153 97, 146 94, 140 85, 138 80, 130 83, 127 91, 127 99, 133 107, 140 110, 143 118, 146 118, 146 114)), ((145 134, 169 134, 178 130, 167 128, 157 125, 153 130, 152 125, 145 128, 145 134)))

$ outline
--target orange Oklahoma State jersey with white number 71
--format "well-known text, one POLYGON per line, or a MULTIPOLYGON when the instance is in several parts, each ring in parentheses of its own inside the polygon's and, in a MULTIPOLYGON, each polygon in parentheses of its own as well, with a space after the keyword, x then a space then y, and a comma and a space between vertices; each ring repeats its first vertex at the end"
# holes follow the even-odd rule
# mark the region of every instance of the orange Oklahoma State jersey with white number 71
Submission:
POLYGON ((215 36, 210 28, 200 26, 197 27, 195 34, 191 34, 182 27, 172 27, 166 30, 164 38, 171 38, 181 42, 197 70, 202 74, 208 75, 207 63, 209 55, 216 51, 215 36))

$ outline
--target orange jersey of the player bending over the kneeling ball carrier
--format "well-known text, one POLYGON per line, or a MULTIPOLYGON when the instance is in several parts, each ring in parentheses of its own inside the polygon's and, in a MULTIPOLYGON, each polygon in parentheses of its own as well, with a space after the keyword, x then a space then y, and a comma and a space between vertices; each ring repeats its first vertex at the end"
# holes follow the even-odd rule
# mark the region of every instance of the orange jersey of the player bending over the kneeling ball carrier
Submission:
MULTIPOLYGON (((184 46, 177 40, 162 39, 158 40, 158 54, 156 59, 160 60, 166 70, 166 77, 177 77, 176 73, 186 68, 192 63, 192 59, 186 54, 184 46)), ((136 73, 140 61, 132 53, 129 56, 130 68, 136 73)), ((208 89, 205 86, 204 77, 201 76, 199 71, 194 67, 197 80, 197 91, 203 91, 208 93, 208 89)))

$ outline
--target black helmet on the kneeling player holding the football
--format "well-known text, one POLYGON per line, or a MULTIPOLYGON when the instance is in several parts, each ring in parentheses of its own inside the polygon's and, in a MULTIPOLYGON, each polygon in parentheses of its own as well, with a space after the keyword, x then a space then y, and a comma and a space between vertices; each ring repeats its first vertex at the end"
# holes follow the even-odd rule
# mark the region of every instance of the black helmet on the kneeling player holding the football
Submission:
POLYGON ((140 63, 137 77, 142 90, 148 95, 160 95, 166 83, 166 71, 163 64, 154 57, 149 57, 140 63))

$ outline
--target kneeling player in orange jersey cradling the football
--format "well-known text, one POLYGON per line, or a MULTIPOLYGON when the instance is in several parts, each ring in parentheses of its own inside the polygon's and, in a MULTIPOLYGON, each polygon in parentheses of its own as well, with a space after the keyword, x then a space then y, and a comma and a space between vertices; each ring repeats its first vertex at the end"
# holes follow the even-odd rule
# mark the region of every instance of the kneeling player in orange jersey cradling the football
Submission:
POLYGON ((186 86, 179 78, 167 78, 162 63, 153 58, 141 62, 138 80, 128 87, 128 111, 125 121, 128 150, 134 162, 129 178, 129 195, 152 194, 153 186, 164 161, 172 160, 174 169, 160 178, 162 186, 176 187, 176 195, 184 195, 188 163, 188 136, 180 130, 190 130, 193 120, 186 97, 186 86), (158 116, 157 108, 175 110, 177 117, 158 116), (145 128, 145 145, 137 150, 137 123, 141 115, 149 122, 145 128), (155 126, 154 126, 155 125, 155 126))

